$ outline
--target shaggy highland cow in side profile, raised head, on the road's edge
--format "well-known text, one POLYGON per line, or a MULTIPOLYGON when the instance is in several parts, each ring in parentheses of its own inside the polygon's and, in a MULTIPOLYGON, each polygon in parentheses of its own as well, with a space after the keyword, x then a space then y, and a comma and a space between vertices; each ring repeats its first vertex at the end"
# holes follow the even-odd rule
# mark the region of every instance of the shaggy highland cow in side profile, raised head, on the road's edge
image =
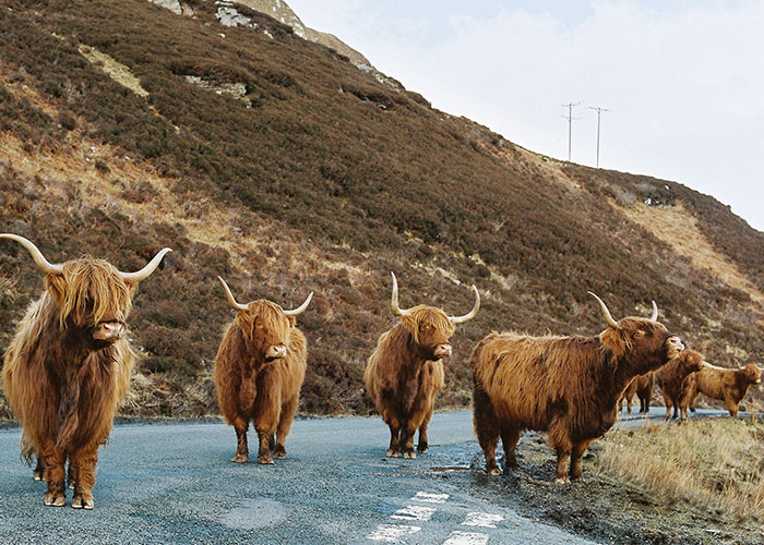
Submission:
POLYGON ((492 332, 473 350, 474 423, 486 455, 486 471, 501 473, 496 447, 501 436, 506 468, 516 467, 523 429, 548 432, 557 452, 554 482, 581 475, 589 443, 616 423, 617 402, 629 382, 664 365, 684 347, 656 322, 628 317, 616 322, 599 302, 608 328, 596 337, 529 337, 492 332))

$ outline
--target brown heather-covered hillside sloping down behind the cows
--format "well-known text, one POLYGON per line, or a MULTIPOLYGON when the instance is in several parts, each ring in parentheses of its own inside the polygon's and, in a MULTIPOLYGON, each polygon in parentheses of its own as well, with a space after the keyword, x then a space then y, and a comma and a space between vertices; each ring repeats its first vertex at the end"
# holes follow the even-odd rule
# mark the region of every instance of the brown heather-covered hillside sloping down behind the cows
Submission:
MULTIPOLYGON (((126 414, 215 412, 212 364, 237 299, 315 291, 303 412, 367 412, 361 376, 403 306, 471 306, 440 405, 469 402, 471 346, 491 329, 594 334, 661 319, 709 361, 761 363, 764 233, 676 182, 595 170, 434 110, 347 57, 241 4, 4 1, 0 230, 53 262, 122 269, 171 246, 130 319, 143 359, 126 414), (243 21, 243 20, 242 20, 243 21), (465 286, 466 284, 466 286, 465 286)), ((508 135, 511 136, 511 135, 508 135)), ((41 290, 0 245, 0 349, 41 290)), ((0 411, 3 411, 0 401, 0 411)))

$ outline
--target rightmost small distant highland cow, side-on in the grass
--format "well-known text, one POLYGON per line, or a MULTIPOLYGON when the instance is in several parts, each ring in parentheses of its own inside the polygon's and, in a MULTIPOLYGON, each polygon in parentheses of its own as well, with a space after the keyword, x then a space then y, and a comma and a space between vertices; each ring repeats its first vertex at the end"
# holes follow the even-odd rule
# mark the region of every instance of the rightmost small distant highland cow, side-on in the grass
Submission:
POLYGON ((695 410, 695 400, 701 393, 724 401, 729 413, 737 416, 740 402, 748 393, 748 389, 761 382, 762 371, 752 363, 737 370, 727 370, 704 362, 701 371, 687 377, 682 384, 679 400, 682 420, 688 419, 688 407, 692 411, 695 410))

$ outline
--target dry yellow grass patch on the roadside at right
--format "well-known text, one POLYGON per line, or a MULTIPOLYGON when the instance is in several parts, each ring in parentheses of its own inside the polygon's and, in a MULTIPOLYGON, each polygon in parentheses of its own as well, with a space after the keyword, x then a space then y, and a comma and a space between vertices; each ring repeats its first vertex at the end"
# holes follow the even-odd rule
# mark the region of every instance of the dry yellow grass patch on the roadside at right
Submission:
POLYGON ((714 419, 619 431, 601 443, 597 471, 666 502, 764 517, 764 426, 714 419))

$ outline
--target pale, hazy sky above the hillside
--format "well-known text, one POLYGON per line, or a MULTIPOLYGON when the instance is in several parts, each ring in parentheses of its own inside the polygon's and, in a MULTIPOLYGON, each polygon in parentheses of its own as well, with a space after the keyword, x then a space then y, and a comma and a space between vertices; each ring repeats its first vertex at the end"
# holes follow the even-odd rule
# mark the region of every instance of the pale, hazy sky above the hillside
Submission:
POLYGON ((764 1, 287 0, 432 106, 533 152, 673 180, 764 231, 764 1))

